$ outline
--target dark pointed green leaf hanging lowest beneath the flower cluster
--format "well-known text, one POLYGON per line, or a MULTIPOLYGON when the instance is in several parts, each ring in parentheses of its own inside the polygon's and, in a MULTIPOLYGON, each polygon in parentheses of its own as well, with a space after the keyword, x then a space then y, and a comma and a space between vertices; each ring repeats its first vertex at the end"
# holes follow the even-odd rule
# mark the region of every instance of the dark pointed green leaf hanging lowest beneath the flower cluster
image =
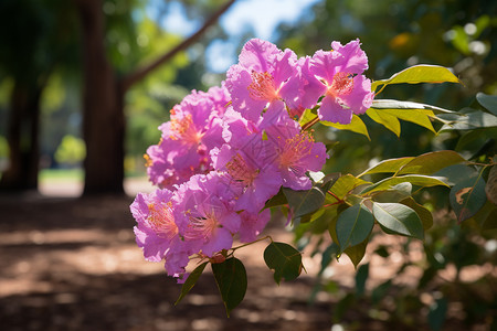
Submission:
POLYGON ((213 264, 212 273, 226 308, 228 317, 230 317, 230 312, 245 297, 247 285, 245 267, 240 259, 232 257, 221 264, 213 264))

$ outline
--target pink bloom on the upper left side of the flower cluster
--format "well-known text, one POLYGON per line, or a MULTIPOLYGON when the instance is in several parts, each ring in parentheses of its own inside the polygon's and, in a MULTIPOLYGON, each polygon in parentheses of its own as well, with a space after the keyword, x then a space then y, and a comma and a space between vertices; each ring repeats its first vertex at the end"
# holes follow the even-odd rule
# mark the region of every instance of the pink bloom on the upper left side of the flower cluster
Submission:
POLYGON ((161 140, 147 149, 147 173, 159 188, 172 189, 195 173, 212 170, 209 151, 224 143, 220 116, 228 105, 225 88, 192 92, 171 109, 161 140))

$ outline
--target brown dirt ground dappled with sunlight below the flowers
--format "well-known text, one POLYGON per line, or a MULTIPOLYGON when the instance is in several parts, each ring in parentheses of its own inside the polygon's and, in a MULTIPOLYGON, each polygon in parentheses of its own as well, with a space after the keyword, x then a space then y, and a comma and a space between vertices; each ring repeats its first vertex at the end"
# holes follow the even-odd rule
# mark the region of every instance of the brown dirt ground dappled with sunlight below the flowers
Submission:
MULTIPOLYGON (((310 254, 304 254, 307 274, 276 286, 263 260, 267 243, 240 249, 248 288, 226 318, 209 267, 173 305, 181 286, 161 264, 146 261, 135 244, 134 192, 85 199, 74 197, 77 188, 42 192, 52 196, 0 195, 0 330, 349 330, 332 325, 337 296, 321 292, 308 303, 320 264, 310 254), (57 192, 66 196, 53 196, 57 192)), ((279 222, 266 233, 292 243, 279 222)), ((394 276, 389 263, 377 263, 369 287, 394 276)), ((346 258, 328 271, 340 287, 353 287, 355 270, 346 258)), ((419 275, 411 277, 400 281, 412 285, 419 275)), ((353 330, 414 330, 367 310, 348 312, 343 325, 351 324, 353 330)))

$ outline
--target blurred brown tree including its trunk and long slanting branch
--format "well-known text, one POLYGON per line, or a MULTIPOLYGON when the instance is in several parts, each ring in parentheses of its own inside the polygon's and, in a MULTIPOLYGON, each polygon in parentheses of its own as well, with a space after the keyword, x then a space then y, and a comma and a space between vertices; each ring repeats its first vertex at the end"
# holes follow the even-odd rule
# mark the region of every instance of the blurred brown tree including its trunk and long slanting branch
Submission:
MULTIPOLYGON (((202 2, 202 1, 200 1, 202 2)), ((224 2, 191 36, 145 66, 118 73, 105 47, 105 6, 123 1, 75 0, 83 33, 83 136, 86 142, 84 194, 121 193, 124 179, 125 94, 137 82, 193 44, 234 0, 224 2), (108 4, 110 3, 110 4, 108 4), (104 7, 103 7, 104 6, 104 7)), ((130 2, 131 3, 131 2, 130 2)), ((133 20, 128 11, 129 20, 133 20)))

